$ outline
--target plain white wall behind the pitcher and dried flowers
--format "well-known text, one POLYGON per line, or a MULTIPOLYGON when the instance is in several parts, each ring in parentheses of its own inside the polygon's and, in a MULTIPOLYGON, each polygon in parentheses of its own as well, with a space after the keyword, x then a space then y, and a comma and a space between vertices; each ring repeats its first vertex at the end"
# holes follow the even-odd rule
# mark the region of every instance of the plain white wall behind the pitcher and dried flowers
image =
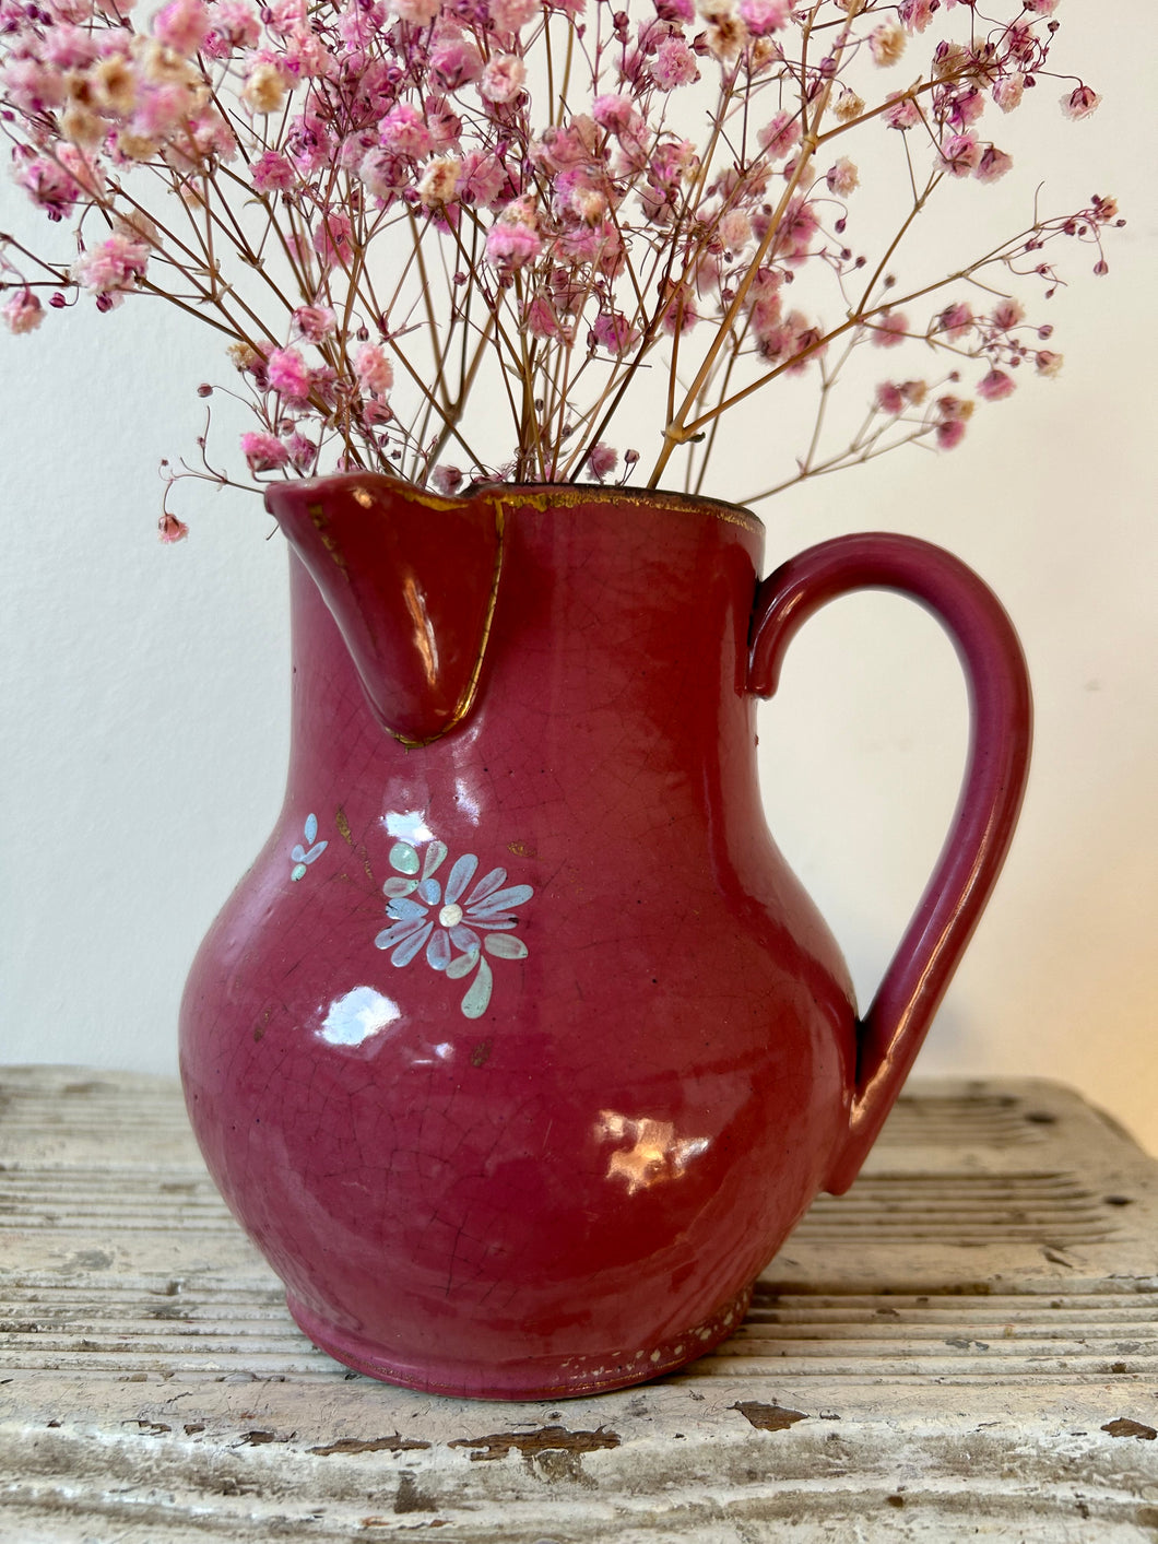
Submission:
MULTIPOLYGON (((760 513, 770 562, 838 531, 911 531, 1002 596, 1034 681, 1034 770, 917 1070, 1064 1079, 1158 1152, 1149 5, 1061 15, 1058 62, 1106 100, 1084 125, 1039 110, 1019 161, 1048 171, 1058 207, 1113 191, 1130 219, 1109 278, 1070 255, 1051 303, 1064 374, 980 411, 951 455, 900 452, 760 513)), ((3 185, 8 229, 19 205, 3 185)), ((190 540, 153 534, 156 465, 193 443, 193 388, 221 375, 208 334, 145 306, 0 337, 3 1062, 171 1072, 184 973, 279 804, 279 539, 256 500, 196 485, 190 540)), ((713 491, 741 494, 746 472, 713 491)), ((763 709, 772 828, 862 999, 936 857, 963 744, 953 652, 891 598, 812 622, 763 709)))

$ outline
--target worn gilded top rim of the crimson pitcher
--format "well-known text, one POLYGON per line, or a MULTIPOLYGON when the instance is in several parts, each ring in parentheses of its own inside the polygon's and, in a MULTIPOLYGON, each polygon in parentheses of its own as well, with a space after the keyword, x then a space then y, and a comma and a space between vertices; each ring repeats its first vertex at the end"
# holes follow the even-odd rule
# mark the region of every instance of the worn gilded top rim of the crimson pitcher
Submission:
POLYGON ((511 503, 531 505, 542 513, 550 506, 565 510, 574 508, 581 503, 599 502, 601 499, 615 499, 635 505, 647 505, 652 510, 664 508, 684 514, 712 516, 718 520, 724 520, 727 525, 740 525, 760 536, 766 531, 764 522, 760 516, 744 508, 744 505, 729 503, 726 499, 710 499, 704 494, 679 493, 673 488, 633 488, 630 485, 619 486, 618 483, 608 486, 607 483, 576 482, 508 483, 496 480, 472 483, 469 489, 462 494, 440 494, 431 488, 420 488, 417 483, 406 482, 405 477, 392 477, 389 472, 371 469, 330 472, 324 477, 293 477, 269 483, 266 488, 266 508, 272 514, 273 506, 270 500, 276 499, 279 494, 292 494, 293 491, 315 499, 320 494, 326 496, 327 493, 346 491, 354 493, 357 497, 357 488, 360 485, 378 488, 386 485, 388 488, 405 489, 408 499, 412 499, 414 503, 425 505, 428 510, 459 510, 463 503, 472 503, 476 499, 508 497, 511 503))

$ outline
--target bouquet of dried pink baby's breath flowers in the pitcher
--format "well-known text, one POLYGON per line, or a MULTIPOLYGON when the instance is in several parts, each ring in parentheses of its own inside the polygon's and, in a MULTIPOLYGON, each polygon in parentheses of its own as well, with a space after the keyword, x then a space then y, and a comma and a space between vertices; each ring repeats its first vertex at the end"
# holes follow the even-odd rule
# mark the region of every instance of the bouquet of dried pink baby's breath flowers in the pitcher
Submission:
MULTIPOLYGON (((1067 238, 1104 272, 1121 224, 1099 196, 974 250, 957 208, 965 250, 928 269, 929 208, 1010 170, 1005 114, 1098 105, 1051 74, 1056 8, 0 0, 15 181, 68 224, 54 256, 0 236, 3 317, 151 295, 215 327, 253 480, 699 493, 724 417, 800 375, 811 432, 752 499, 951 449, 977 398, 1061 363, 1019 290, 1051 293, 1067 238)), ((167 480, 232 483, 199 446, 167 480)))

